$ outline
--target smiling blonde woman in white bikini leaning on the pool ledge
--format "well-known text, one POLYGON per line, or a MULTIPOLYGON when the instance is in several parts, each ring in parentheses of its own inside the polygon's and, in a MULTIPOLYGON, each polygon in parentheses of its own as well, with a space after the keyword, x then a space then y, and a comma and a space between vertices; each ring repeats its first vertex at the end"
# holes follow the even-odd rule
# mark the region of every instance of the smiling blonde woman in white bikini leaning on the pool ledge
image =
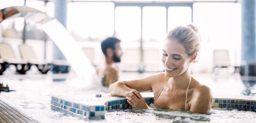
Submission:
POLYGON ((139 91, 152 90, 154 103, 150 107, 208 113, 212 106, 211 89, 191 75, 189 64, 195 62, 200 50, 197 28, 193 25, 172 29, 164 42, 162 62, 165 72, 133 81, 118 81, 110 85, 113 96, 124 96, 132 108, 148 108, 139 91))

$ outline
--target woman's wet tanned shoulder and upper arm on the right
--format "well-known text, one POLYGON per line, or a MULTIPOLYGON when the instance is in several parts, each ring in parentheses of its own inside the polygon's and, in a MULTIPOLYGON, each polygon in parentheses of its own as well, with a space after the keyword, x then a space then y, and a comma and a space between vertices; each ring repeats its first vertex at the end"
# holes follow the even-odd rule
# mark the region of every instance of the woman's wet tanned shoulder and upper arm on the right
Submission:
POLYGON ((190 106, 190 111, 194 113, 207 114, 212 108, 212 91, 205 85, 196 88, 190 106))

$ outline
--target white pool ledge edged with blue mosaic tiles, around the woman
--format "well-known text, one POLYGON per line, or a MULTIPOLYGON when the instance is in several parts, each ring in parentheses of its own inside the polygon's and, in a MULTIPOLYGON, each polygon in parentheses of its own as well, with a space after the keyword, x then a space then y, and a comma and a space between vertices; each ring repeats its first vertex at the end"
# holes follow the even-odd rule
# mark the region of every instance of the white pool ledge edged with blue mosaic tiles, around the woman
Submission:
MULTIPOLYGON (((152 92, 141 93, 147 104, 154 102, 152 92)), ((51 104, 86 117, 102 117, 106 111, 127 109, 129 104, 124 97, 103 94, 75 96, 52 96, 51 104)), ((256 99, 213 98, 212 107, 232 108, 244 111, 256 111, 256 99)))

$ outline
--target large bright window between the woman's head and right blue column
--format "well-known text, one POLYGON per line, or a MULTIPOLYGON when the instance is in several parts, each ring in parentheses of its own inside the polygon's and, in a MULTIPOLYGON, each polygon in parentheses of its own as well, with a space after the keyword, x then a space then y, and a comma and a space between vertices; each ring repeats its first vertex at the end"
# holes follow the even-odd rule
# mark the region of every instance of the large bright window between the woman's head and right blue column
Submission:
MULTIPOLYGON (((201 34, 199 64, 210 65, 212 51, 229 51, 230 64, 239 65, 241 59, 241 6, 239 3, 194 3, 193 23, 201 34)), ((204 66, 205 68, 207 66, 204 66)), ((209 70, 211 71, 211 70, 209 70)))

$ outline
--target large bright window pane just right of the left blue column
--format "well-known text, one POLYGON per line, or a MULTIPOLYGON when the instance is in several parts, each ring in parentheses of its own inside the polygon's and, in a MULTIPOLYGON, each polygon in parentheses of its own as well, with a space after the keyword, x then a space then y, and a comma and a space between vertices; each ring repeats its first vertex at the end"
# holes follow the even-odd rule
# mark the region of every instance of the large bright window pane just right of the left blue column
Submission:
POLYGON ((67 29, 77 41, 101 41, 114 34, 114 4, 69 2, 67 29))

